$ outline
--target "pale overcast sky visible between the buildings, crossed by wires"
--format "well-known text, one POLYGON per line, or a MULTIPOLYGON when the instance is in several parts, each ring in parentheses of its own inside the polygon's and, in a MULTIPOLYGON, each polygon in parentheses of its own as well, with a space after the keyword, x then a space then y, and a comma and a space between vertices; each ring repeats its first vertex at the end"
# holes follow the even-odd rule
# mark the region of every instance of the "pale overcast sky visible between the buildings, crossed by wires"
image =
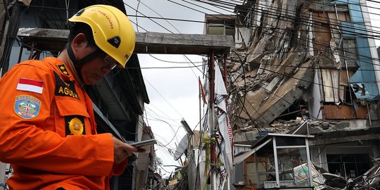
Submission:
MULTIPOLYGON (((146 15, 151 17, 163 17, 163 18, 173 18, 182 20, 204 20, 204 13, 191 10, 191 8, 186 8, 184 6, 179 6, 170 1, 175 1, 185 6, 195 8, 198 11, 213 13, 213 11, 208 11, 204 8, 191 5, 186 3, 186 0, 141 0, 138 4, 137 0, 125 1, 128 6, 127 14, 129 19, 133 23, 138 23, 139 26, 135 27, 138 32, 165 32, 165 33, 182 33, 182 34, 203 34, 203 23, 194 22, 183 22, 175 20, 156 20, 157 23, 148 20, 146 18, 137 18, 132 15, 146 15), (134 9, 137 9, 141 13, 136 13, 134 9), (164 26, 161 27, 160 25, 164 26)), ((211 8, 219 13, 228 13, 220 9, 215 9, 205 4, 201 4, 198 1, 190 1, 193 4, 198 4, 200 6, 211 8)), ((379 6, 379 3, 368 2, 369 6, 379 6)), ((376 11, 380 13, 379 9, 369 9, 369 11, 376 11)), ((372 15, 373 16, 373 15, 372 15)), ((380 18, 379 15, 372 17, 372 23, 376 25, 374 30, 380 31, 380 18)), ((379 46, 379 41, 376 42, 379 46)), ((189 67, 193 64, 182 63, 189 62, 181 55, 142 55, 139 54, 139 62, 144 75, 144 80, 146 83, 146 89, 148 91, 148 96, 151 101, 150 104, 146 105, 146 116, 148 118, 147 123, 152 127, 153 133, 160 141, 160 144, 167 146, 156 146, 156 154, 159 158, 163 160, 163 165, 180 165, 177 163, 172 154, 170 154, 167 149, 172 149, 175 151, 176 144, 182 139, 186 132, 183 127, 180 127, 180 121, 184 118, 191 129, 199 129, 197 126, 199 122, 199 106, 198 106, 198 76, 201 77, 203 81, 202 70, 197 68, 168 68, 168 67, 189 67), (181 63, 167 63, 163 61, 158 61, 159 58, 164 61, 174 61, 181 63), (158 68, 160 67, 160 68, 158 68), (158 121, 164 120, 165 122, 158 121), (173 139, 174 138, 174 139, 173 139)), ((188 56, 195 65, 201 65, 200 56, 188 56)), ((145 116, 145 115, 144 115, 145 116)), ((163 167, 167 172, 172 172, 174 167, 163 167)), ((164 177, 167 177, 167 172, 163 172, 164 177)))

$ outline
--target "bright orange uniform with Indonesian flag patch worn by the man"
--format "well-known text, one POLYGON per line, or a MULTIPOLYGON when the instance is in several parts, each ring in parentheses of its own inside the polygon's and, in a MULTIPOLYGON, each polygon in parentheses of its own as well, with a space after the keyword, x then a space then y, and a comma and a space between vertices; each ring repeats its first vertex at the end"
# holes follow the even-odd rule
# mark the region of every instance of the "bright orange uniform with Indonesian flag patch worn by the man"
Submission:
POLYGON ((96 134, 92 102, 57 58, 24 61, 0 79, 0 161, 11 189, 109 189, 127 164, 96 134), (94 135, 96 134, 96 135, 94 135))

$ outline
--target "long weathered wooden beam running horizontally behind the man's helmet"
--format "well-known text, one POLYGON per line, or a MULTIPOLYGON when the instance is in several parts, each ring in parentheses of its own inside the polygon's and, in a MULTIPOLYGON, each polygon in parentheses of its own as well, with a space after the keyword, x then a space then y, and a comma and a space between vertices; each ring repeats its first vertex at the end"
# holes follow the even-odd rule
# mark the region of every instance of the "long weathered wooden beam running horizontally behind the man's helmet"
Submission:
MULTIPOLYGON (((41 51, 61 51, 68 42, 68 30, 46 28, 20 28, 21 42, 41 51)), ((158 32, 137 32, 134 53, 160 54, 201 54, 210 51, 223 54, 234 47, 234 39, 228 35, 167 34, 158 32)))

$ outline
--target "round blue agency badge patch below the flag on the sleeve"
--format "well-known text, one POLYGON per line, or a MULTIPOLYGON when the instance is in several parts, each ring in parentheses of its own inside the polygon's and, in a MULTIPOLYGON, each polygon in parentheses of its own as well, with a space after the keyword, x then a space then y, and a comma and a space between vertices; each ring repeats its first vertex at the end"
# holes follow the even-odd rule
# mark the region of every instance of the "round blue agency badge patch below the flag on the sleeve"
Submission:
POLYGON ((41 108, 41 101, 33 96, 21 95, 15 98, 15 113, 23 119, 30 120, 36 118, 41 108))

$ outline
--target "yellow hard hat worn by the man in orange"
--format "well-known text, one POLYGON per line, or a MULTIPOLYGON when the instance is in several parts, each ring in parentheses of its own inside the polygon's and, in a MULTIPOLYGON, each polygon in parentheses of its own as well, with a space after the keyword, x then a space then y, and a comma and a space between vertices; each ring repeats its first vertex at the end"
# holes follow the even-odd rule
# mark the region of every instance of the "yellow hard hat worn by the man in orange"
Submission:
POLYGON ((94 5, 78 11, 69 21, 89 25, 96 46, 125 67, 135 44, 134 29, 125 13, 113 6, 94 5))

